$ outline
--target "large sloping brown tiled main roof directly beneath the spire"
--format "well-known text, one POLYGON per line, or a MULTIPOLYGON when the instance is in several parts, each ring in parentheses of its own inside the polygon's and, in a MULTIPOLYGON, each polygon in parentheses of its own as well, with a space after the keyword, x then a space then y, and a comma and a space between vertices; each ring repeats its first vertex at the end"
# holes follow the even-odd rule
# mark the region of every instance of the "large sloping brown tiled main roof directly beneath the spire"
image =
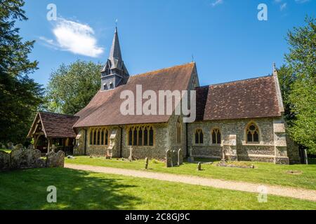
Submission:
POLYGON ((136 85, 142 85, 143 92, 153 90, 157 95, 159 90, 187 90, 194 69, 195 63, 192 62, 150 71, 131 76, 125 85, 119 85, 114 90, 100 90, 91 102, 75 115, 80 118, 74 127, 166 123, 170 118, 168 115, 123 116, 120 112, 120 106, 125 99, 120 99, 121 92, 131 90, 136 96, 136 85))

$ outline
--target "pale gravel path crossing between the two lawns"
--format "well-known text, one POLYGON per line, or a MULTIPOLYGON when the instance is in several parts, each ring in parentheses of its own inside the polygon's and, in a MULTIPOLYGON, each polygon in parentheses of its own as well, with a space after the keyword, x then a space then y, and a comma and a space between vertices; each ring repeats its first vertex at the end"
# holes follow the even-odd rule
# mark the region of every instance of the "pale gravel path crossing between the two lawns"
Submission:
POLYGON ((240 190, 250 193, 258 193, 259 186, 265 186, 268 195, 278 195, 284 197, 293 197, 301 200, 309 200, 316 202, 316 190, 305 190, 302 188, 287 188, 282 186, 269 186, 256 183, 245 183, 239 181, 223 181, 219 179, 206 179, 197 176, 184 176, 176 174, 162 174, 154 172, 145 172, 132 169, 119 169, 112 167, 94 167, 88 165, 70 165, 65 164, 65 168, 79 169, 90 172, 104 174, 119 174, 123 176, 133 176, 140 178, 155 179, 159 181, 171 181, 177 183, 187 183, 199 186, 209 186, 213 188, 222 188, 228 190, 240 190))

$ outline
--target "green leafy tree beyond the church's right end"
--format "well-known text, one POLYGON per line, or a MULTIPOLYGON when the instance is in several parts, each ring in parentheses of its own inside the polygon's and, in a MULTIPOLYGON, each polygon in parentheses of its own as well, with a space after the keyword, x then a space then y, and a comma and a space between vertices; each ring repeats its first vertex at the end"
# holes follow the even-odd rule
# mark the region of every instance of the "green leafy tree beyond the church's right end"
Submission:
POLYGON ((294 141, 316 154, 316 20, 306 18, 304 27, 289 31, 287 82, 284 98, 290 108, 289 133, 294 141))

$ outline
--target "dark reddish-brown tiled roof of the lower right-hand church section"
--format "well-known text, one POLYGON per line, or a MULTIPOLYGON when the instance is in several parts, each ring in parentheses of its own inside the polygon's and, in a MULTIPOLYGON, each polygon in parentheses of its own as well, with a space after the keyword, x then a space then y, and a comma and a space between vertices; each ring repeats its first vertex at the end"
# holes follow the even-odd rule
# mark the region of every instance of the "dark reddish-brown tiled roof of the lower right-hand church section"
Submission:
POLYGON ((272 76, 197 87, 197 121, 278 116, 272 76))

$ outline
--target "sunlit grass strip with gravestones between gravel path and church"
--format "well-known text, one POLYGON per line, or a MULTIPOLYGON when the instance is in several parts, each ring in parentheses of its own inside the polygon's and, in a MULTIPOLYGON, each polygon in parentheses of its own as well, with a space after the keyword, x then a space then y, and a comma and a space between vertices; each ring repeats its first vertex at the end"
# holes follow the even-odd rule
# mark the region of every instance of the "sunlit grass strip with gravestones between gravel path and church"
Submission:
MULTIPOLYGON (((88 156, 77 156, 75 160, 66 159, 65 162, 77 165, 94 165, 137 170, 142 170, 145 166, 144 160, 129 162, 128 160, 105 160, 104 158, 91 159, 88 156)), ((311 160, 311 162, 315 161, 311 160)), ((163 162, 155 163, 150 161, 150 169, 148 171, 316 190, 316 165, 274 165, 267 162, 245 163, 248 165, 254 164, 255 169, 217 167, 215 162, 214 165, 202 165, 203 170, 198 172, 196 164, 185 162, 184 165, 180 167, 166 168, 163 162), (300 175, 287 174, 287 171, 290 170, 303 173, 300 175)))

